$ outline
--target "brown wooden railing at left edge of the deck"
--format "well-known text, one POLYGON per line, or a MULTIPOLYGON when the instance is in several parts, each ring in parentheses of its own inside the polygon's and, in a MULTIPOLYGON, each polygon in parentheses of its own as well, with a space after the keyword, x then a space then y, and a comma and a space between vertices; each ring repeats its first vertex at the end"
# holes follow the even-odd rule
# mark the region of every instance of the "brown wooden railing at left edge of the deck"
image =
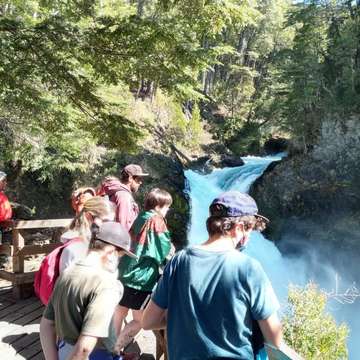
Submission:
POLYGON ((49 220, 19 220, 0 223, 1 227, 10 229, 12 233, 11 244, 1 244, 0 254, 10 256, 12 271, 0 270, 0 278, 11 281, 13 294, 16 299, 23 296, 23 286, 33 283, 36 271, 24 272, 24 258, 28 255, 48 254, 60 245, 59 242, 41 245, 26 245, 22 232, 30 229, 65 228, 70 225, 72 219, 49 219, 49 220))

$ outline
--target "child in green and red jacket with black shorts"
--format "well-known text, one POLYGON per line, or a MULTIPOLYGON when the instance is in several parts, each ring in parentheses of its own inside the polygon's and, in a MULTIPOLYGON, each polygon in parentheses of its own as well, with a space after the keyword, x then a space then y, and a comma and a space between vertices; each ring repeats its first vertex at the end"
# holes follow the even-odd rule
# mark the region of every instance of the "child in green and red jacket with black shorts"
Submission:
POLYGON ((119 350, 140 331, 143 308, 157 283, 159 268, 170 253, 170 234, 165 216, 171 203, 172 198, 167 191, 152 189, 145 197, 145 210, 130 229, 131 250, 139 259, 124 256, 119 265, 119 277, 124 285, 124 295, 116 312, 119 332, 129 309, 133 314, 133 320, 120 332, 117 341, 119 350))

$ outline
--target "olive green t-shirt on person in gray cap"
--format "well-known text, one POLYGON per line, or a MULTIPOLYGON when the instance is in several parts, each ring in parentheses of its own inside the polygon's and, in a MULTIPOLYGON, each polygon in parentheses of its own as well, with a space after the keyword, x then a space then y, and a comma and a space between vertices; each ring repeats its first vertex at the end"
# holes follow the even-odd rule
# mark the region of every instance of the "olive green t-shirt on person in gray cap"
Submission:
POLYGON ((59 339, 74 345, 81 335, 100 338, 97 347, 112 351, 116 341, 112 316, 123 294, 116 274, 86 258, 57 279, 44 317, 55 322, 59 339))

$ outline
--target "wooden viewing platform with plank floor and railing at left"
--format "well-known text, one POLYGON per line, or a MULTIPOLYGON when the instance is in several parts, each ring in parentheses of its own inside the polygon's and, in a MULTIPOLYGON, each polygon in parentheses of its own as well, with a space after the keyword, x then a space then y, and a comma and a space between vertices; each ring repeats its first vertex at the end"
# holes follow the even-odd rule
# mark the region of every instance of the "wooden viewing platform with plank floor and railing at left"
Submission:
MULTIPOLYGON (((33 282, 41 259, 60 243, 56 235, 39 244, 28 244, 24 236, 29 230, 65 228, 70 222, 71 219, 48 219, 5 224, 11 230, 11 241, 0 244, 0 254, 7 255, 10 263, 9 269, 0 270, 1 360, 45 359, 39 338, 44 306, 33 295, 33 282)), ((140 331, 126 351, 141 354, 142 360, 166 360, 163 337, 155 333, 140 331)))

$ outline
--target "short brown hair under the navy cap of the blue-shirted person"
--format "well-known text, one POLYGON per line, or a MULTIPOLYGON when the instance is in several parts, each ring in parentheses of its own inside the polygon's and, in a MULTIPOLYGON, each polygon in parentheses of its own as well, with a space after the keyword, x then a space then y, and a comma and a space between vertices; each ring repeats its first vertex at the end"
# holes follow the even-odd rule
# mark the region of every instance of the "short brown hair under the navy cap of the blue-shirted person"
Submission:
POLYGON ((263 231, 266 227, 266 221, 255 215, 239 217, 210 216, 206 220, 206 229, 210 236, 226 235, 236 224, 243 224, 245 230, 263 231))

